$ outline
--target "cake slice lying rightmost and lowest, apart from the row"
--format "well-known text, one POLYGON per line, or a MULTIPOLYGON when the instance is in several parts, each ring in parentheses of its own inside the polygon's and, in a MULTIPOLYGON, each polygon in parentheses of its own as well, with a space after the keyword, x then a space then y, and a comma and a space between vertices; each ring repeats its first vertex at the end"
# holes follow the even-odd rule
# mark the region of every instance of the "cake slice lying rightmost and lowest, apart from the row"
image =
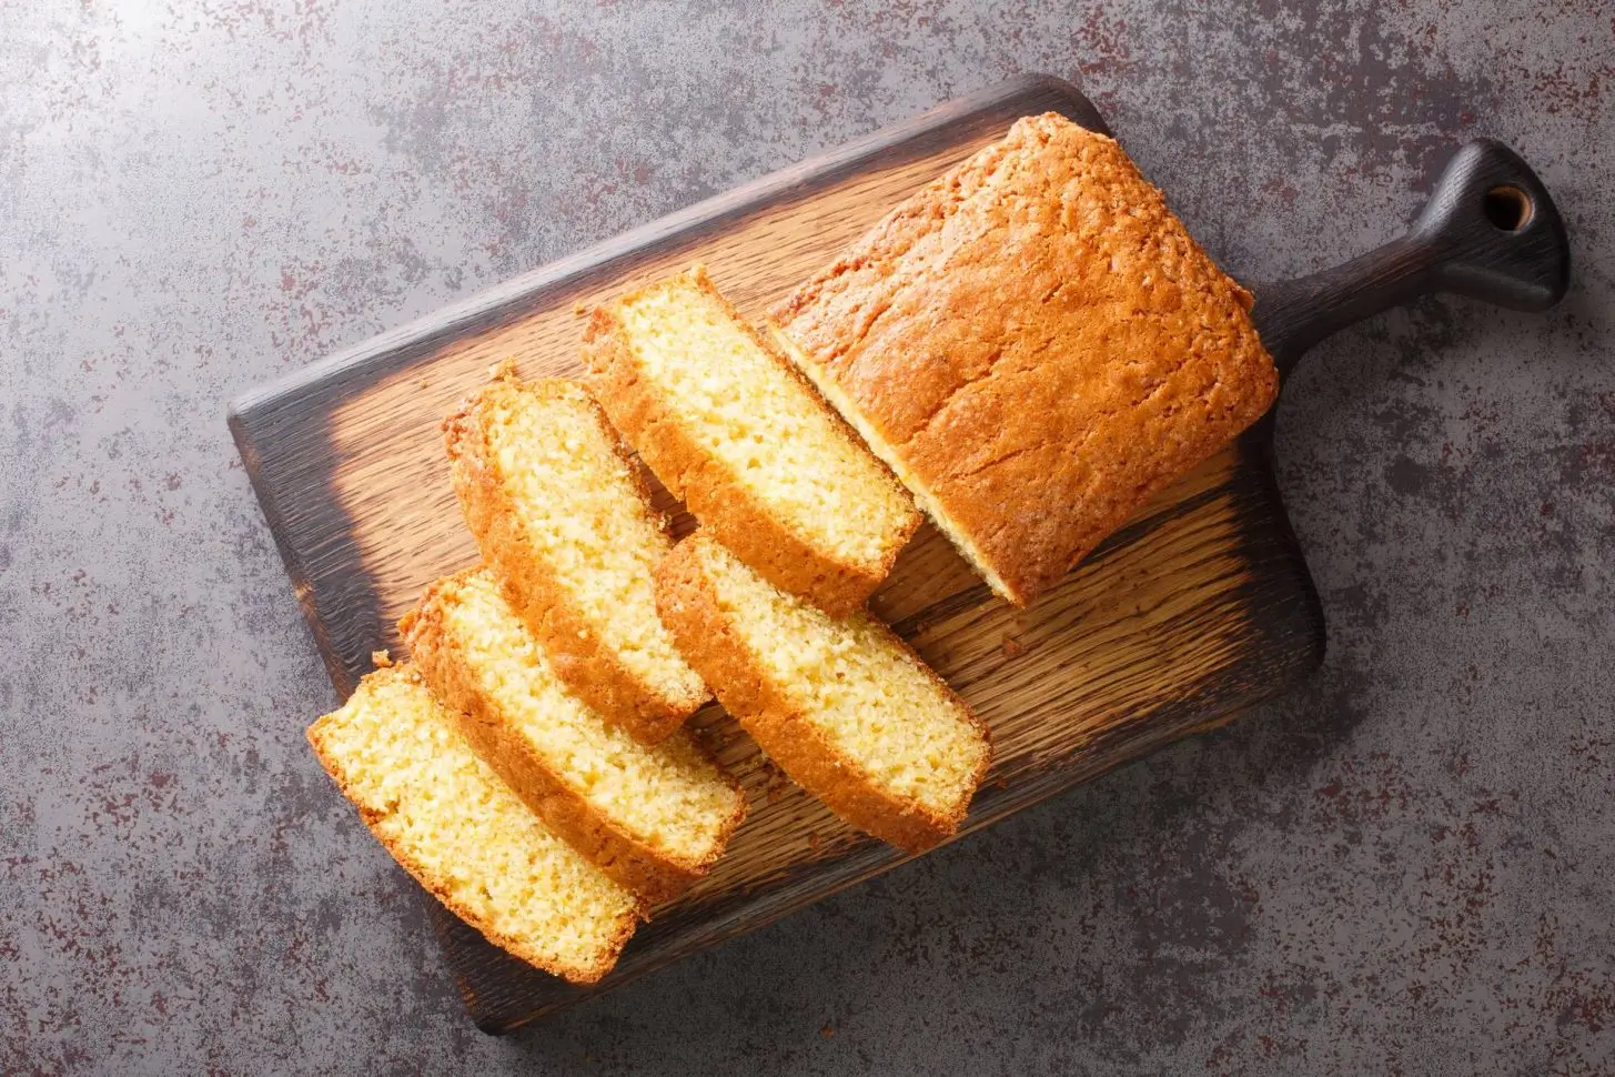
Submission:
POLYGON ((987 727, 890 628, 835 618, 696 533, 656 570, 656 606, 719 702, 853 827, 921 853, 987 772, 987 727))

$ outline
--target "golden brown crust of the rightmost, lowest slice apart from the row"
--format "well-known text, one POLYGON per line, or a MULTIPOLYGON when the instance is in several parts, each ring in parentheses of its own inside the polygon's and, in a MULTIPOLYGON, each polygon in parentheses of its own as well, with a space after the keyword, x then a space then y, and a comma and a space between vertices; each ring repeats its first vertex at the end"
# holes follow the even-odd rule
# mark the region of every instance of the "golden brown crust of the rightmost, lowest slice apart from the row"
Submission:
MULTIPOLYGON (((961 799, 956 812, 940 815, 872 785, 859 764, 841 756, 824 731, 804 719, 788 689, 774 683, 756 662, 719 606, 715 585, 703 570, 698 543, 685 539, 656 570, 656 609, 724 709, 796 785, 849 825, 911 854, 951 838, 964 819, 969 798, 961 799)), ((891 639, 908 651, 895 635, 891 639)), ((987 738, 987 725, 964 701, 917 656, 916 662, 987 738)), ((990 754, 984 754, 972 788, 987 773, 988 762, 990 754)))

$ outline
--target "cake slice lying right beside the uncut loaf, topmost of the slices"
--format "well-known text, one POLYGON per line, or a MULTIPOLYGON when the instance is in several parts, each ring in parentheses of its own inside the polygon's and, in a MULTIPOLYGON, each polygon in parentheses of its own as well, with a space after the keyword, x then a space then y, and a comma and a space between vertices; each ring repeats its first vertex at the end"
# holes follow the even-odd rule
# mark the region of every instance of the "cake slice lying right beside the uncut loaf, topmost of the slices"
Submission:
POLYGON ((919 526, 903 488, 694 266, 594 310, 589 389, 657 478, 775 586, 853 610, 919 526))

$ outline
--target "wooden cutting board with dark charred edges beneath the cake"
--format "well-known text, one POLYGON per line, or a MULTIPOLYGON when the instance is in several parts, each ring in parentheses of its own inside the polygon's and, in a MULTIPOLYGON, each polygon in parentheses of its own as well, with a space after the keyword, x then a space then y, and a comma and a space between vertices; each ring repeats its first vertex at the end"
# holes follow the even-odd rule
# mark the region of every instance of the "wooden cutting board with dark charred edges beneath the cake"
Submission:
MULTIPOLYGON (((493 363, 514 357, 530 378, 577 375, 583 310, 694 260, 759 318, 904 195, 1000 139, 1016 118, 1048 110, 1105 131, 1072 86, 1017 79, 237 400, 231 430, 338 691, 352 691, 371 651, 402 652, 394 622, 426 583, 476 560, 438 425, 493 363)), ((1265 336, 1281 360, 1298 354, 1308 333, 1334 328, 1321 318, 1366 313, 1340 308, 1363 304, 1368 268, 1274 291, 1281 300, 1268 307, 1274 328, 1265 336)), ((1268 292, 1258 294, 1266 302, 1268 292)), ((995 599, 930 526, 909 544, 872 607, 993 733, 995 765, 961 833, 1226 722, 1319 664, 1323 615, 1265 444, 1258 430, 1219 452, 1027 610, 995 599)), ((694 526, 672 496, 657 489, 657 497, 677 513, 675 531, 694 526)), ((581 990, 536 972, 433 901, 444 953, 481 1029, 509 1030, 607 991, 904 859, 787 782, 715 706, 693 725, 743 782, 751 814, 712 875, 659 909, 602 983, 581 990)), ((334 790, 331 811, 341 811, 334 790)))

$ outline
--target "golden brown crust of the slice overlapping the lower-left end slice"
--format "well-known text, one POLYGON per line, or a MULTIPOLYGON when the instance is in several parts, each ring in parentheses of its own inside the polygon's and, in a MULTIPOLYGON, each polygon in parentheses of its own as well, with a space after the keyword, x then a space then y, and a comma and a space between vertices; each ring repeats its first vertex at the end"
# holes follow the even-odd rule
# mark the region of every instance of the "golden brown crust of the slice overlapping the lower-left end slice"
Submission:
MULTIPOLYGON (((714 770, 735 790, 736 807, 722 825, 711 854, 688 861, 649 848, 622 825, 602 817, 557 772, 551 761, 533 751, 504 722, 497 707, 476 683, 475 675, 452 633, 444 630, 444 602, 454 601, 455 583, 473 570, 438 580, 422 594, 420 604, 399 620, 399 635, 410 647, 410 657, 433 693, 443 699, 460 723, 460 733, 472 749, 504 778, 517 796, 578 853, 586 856, 609 878, 659 904, 677 898, 706 875, 728 844, 730 835, 746 815, 746 798, 735 778, 691 738, 691 748, 704 754, 714 770)), ((678 731, 673 736, 688 736, 678 731)))

